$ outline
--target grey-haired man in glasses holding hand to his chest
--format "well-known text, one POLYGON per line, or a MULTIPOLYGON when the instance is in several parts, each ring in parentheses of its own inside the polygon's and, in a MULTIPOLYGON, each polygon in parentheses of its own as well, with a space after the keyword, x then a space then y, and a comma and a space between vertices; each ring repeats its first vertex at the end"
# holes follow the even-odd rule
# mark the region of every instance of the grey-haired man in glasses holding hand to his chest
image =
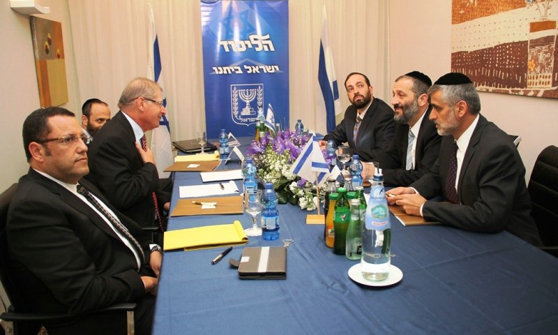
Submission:
POLYGON ((120 111, 103 126, 89 148, 89 174, 110 203, 142 226, 165 230, 163 209, 169 209, 172 184, 159 179, 144 132, 159 126, 167 113, 163 90, 138 77, 122 91, 120 111))

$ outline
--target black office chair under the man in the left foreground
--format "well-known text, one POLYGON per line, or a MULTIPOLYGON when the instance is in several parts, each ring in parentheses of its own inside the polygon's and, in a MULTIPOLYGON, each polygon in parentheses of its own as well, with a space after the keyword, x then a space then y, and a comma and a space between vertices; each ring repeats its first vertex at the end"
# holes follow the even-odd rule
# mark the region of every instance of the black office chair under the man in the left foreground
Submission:
MULTIPOLYGON (((16 190, 17 184, 13 184, 0 194, 0 323, 6 334, 37 334, 43 322, 70 320, 77 315, 68 313, 20 313, 20 310, 25 310, 25 308, 17 285, 10 279, 10 260, 6 243, 8 207, 16 190)), ((134 303, 115 304, 94 311, 93 314, 121 313, 123 317, 126 315, 127 334, 134 334, 135 306, 134 303)))

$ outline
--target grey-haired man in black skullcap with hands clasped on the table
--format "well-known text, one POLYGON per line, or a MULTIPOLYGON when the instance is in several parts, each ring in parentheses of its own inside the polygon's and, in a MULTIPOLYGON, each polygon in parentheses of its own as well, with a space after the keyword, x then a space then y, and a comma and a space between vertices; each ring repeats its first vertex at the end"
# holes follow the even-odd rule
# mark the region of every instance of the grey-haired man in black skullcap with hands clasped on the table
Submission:
POLYGON ((525 167, 504 131, 479 112, 481 101, 469 77, 448 73, 428 90, 439 135, 438 162, 409 188, 394 188, 391 204, 456 228, 508 230, 531 244, 540 239, 530 216, 525 167), (448 202, 427 201, 442 195, 448 202))

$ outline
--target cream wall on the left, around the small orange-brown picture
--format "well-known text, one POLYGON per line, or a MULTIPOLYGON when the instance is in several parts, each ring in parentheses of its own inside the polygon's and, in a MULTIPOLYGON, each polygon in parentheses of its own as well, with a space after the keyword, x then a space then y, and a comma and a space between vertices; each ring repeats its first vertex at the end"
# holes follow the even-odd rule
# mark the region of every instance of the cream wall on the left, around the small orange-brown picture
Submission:
MULTIPOLYGON (((46 6, 50 6, 51 14, 37 16, 62 22, 70 100, 62 107, 81 115, 67 0, 49 0, 46 6)), ((40 107, 40 102, 29 16, 16 13, 10 9, 10 1, 3 0, 0 6, 0 31, 3 41, 3 52, 0 53, 0 191, 3 191, 27 173, 29 165, 23 149, 22 124, 29 113, 40 107)))

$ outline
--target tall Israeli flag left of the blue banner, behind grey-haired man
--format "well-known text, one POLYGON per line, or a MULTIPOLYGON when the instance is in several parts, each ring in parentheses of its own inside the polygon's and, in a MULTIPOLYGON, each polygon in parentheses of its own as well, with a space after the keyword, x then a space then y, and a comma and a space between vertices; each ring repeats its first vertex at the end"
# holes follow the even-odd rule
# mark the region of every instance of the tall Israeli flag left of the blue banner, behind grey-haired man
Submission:
MULTIPOLYGON (((165 84, 163 83, 163 74, 161 73, 161 57, 159 53, 159 40, 157 31, 155 30, 155 19, 153 17, 153 9, 151 4, 147 3, 149 12, 149 60, 147 64, 147 77, 157 82, 163 89, 163 106, 167 106, 167 97, 165 96, 165 84)), ((166 115, 163 115, 159 121, 159 126, 151 131, 151 151, 153 158, 157 163, 157 171, 160 178, 169 177, 169 172, 165 172, 165 168, 174 163, 172 156, 172 141, 170 138, 170 125, 166 115)))

